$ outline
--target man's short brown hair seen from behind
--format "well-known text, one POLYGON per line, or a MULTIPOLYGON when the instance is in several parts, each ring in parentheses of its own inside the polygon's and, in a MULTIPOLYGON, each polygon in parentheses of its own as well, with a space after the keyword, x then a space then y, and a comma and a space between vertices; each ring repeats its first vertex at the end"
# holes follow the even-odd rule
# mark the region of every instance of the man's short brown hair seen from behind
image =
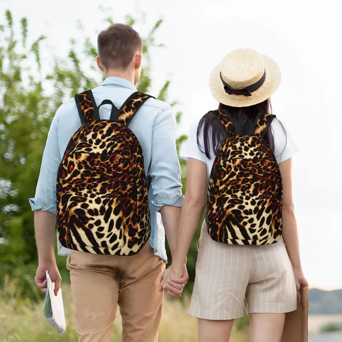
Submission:
POLYGON ((97 49, 106 69, 126 69, 143 43, 137 31, 125 24, 113 24, 100 32, 97 49))

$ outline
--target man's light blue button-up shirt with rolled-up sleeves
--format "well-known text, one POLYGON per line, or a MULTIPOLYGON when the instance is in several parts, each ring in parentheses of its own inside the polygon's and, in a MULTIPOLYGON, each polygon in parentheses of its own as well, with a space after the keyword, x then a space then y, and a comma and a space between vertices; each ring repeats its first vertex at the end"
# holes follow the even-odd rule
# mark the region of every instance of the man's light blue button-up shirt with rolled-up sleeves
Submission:
MULTIPOLYGON (((108 77, 100 87, 93 89, 97 105, 111 100, 117 108, 137 91, 131 82, 119 77, 108 77)), ((110 105, 100 107, 100 118, 109 119, 110 105)), ((48 133, 41 169, 34 198, 30 198, 32 210, 50 211, 56 214, 56 179, 71 136, 80 128, 74 98, 56 111, 48 133)), ((159 210, 164 205, 183 205, 180 165, 176 151, 176 119, 172 107, 165 102, 149 98, 129 124, 139 140, 145 163, 145 173, 152 177, 148 192, 151 212, 151 236, 149 243, 154 254, 167 261, 165 231, 159 210)), ((58 251, 66 255, 69 250, 58 242, 58 251)))

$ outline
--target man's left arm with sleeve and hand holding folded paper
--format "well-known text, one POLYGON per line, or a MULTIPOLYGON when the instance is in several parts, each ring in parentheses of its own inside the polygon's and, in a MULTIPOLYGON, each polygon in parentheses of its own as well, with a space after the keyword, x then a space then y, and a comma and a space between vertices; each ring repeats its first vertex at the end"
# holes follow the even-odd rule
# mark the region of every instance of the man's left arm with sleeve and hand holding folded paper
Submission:
MULTIPOLYGON (((58 113, 58 110, 57 110, 58 113)), ((30 205, 35 211, 35 234, 38 250, 38 268, 36 284, 46 292, 46 273, 49 271, 51 280, 55 282, 55 294, 61 286, 61 276, 58 272, 55 253, 56 226, 56 179, 61 155, 57 137, 57 113, 52 120, 44 148, 35 198, 30 198, 30 205)))

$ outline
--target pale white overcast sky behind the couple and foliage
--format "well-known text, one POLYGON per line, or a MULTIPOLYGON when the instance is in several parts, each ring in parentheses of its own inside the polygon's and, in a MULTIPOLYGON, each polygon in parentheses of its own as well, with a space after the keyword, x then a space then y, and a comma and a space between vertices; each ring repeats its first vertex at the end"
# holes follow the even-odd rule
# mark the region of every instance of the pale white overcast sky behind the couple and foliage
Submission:
MULTIPOLYGON (((170 99, 184 113, 180 133, 217 107, 208 78, 226 53, 253 48, 278 63, 282 82, 272 97, 274 114, 301 150, 293 161, 293 192, 304 274, 311 287, 334 289, 342 288, 341 24, 334 1, 314 3, 144 0, 140 9, 147 14, 146 27, 164 19, 156 37, 167 47, 153 52, 152 92, 170 77, 170 99)), ((77 19, 95 43, 96 32, 107 26, 105 16, 123 22, 135 4, 0 0, 0 14, 1 21, 5 9, 15 22, 26 16, 29 36, 47 35, 54 53, 64 56, 70 38, 80 35, 77 19), (111 9, 103 13, 95 3, 111 9)))

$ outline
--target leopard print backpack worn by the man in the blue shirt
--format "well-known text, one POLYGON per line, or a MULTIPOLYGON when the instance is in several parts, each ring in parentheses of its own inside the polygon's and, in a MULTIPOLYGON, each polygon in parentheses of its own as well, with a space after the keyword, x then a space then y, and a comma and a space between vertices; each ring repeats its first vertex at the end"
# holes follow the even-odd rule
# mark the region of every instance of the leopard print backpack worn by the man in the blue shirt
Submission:
POLYGON ((57 227, 62 246, 93 254, 133 255, 150 236, 141 145, 128 127, 150 95, 133 93, 120 109, 110 100, 101 120, 91 90, 76 94, 81 127, 57 174, 57 227))

